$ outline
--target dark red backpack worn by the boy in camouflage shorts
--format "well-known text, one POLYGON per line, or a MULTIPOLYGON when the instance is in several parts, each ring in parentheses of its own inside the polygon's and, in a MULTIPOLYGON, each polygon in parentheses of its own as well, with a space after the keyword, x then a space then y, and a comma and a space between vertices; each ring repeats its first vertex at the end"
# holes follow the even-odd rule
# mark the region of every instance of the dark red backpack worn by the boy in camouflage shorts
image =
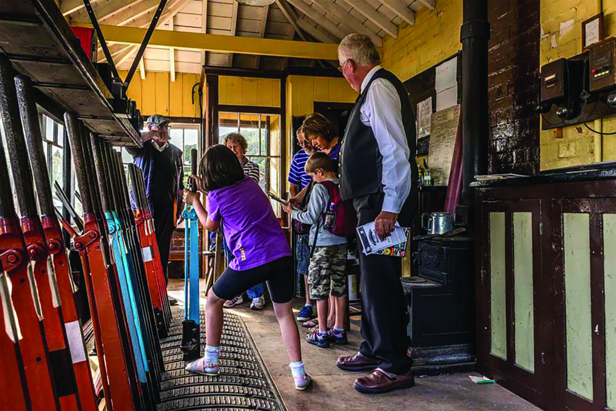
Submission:
POLYGON ((327 231, 338 237, 351 237, 357 228, 357 213, 351 199, 343 201, 338 184, 325 180, 322 184, 330 194, 330 203, 323 213, 324 226, 327 231))

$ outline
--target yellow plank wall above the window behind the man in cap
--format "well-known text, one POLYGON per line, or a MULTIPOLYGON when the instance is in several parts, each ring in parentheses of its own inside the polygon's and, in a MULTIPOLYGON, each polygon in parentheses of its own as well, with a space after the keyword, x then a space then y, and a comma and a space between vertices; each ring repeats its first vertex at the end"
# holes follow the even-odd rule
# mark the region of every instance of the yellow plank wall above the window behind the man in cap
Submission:
MULTIPOLYGON (((120 71, 126 78, 127 71, 120 71)), ((128 97, 137 102, 137 108, 144 116, 163 114, 172 117, 197 117, 199 115, 199 93, 195 87, 195 103, 192 102, 192 88, 199 82, 199 74, 177 73, 171 81, 169 73, 146 71, 145 80, 136 73, 128 87, 128 97)))

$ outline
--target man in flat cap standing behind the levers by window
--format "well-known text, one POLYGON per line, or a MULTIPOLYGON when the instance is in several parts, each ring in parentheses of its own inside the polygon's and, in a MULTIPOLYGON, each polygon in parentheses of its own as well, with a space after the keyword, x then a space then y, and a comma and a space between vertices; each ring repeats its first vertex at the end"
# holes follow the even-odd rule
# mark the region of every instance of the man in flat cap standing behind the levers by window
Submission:
MULTIPOLYGON (((154 218, 156 242, 163 265, 165 282, 169 282, 167 264, 171 249, 171 236, 176 228, 176 220, 182 213, 179 204, 184 190, 184 169, 182 167, 182 150, 169 143, 169 125, 171 120, 155 114, 146 122, 147 132, 142 138, 142 148, 127 147, 134 164, 141 169, 145 180, 145 194, 154 218)), ((169 298, 172 304, 175 298, 169 298)))

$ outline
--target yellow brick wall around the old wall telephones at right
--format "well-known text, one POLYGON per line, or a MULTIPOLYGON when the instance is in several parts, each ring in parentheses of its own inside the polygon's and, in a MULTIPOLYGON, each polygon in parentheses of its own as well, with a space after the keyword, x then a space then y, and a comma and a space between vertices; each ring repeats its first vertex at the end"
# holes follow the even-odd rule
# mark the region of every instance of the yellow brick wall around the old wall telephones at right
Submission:
MULTIPOLYGON (((541 0, 540 65, 582 52, 582 22, 598 14, 600 4, 599 0, 541 0), (561 35, 561 23, 569 20, 574 23, 572 30, 561 35)), ((603 0, 603 13, 605 36, 616 36, 616 0, 603 0)), ((590 122, 589 126, 614 132, 616 116, 590 122)), ((583 125, 564 127, 562 138, 553 130, 542 130, 540 157, 541 170, 616 161, 616 138, 594 134, 583 125)))

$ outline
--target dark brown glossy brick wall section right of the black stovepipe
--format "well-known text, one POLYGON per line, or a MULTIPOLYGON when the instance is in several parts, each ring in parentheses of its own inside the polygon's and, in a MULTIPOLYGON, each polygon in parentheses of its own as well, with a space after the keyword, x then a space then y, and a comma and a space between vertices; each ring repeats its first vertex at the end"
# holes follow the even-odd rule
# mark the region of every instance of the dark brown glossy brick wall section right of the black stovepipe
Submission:
POLYGON ((490 174, 539 170, 539 12, 536 0, 488 0, 490 174))

